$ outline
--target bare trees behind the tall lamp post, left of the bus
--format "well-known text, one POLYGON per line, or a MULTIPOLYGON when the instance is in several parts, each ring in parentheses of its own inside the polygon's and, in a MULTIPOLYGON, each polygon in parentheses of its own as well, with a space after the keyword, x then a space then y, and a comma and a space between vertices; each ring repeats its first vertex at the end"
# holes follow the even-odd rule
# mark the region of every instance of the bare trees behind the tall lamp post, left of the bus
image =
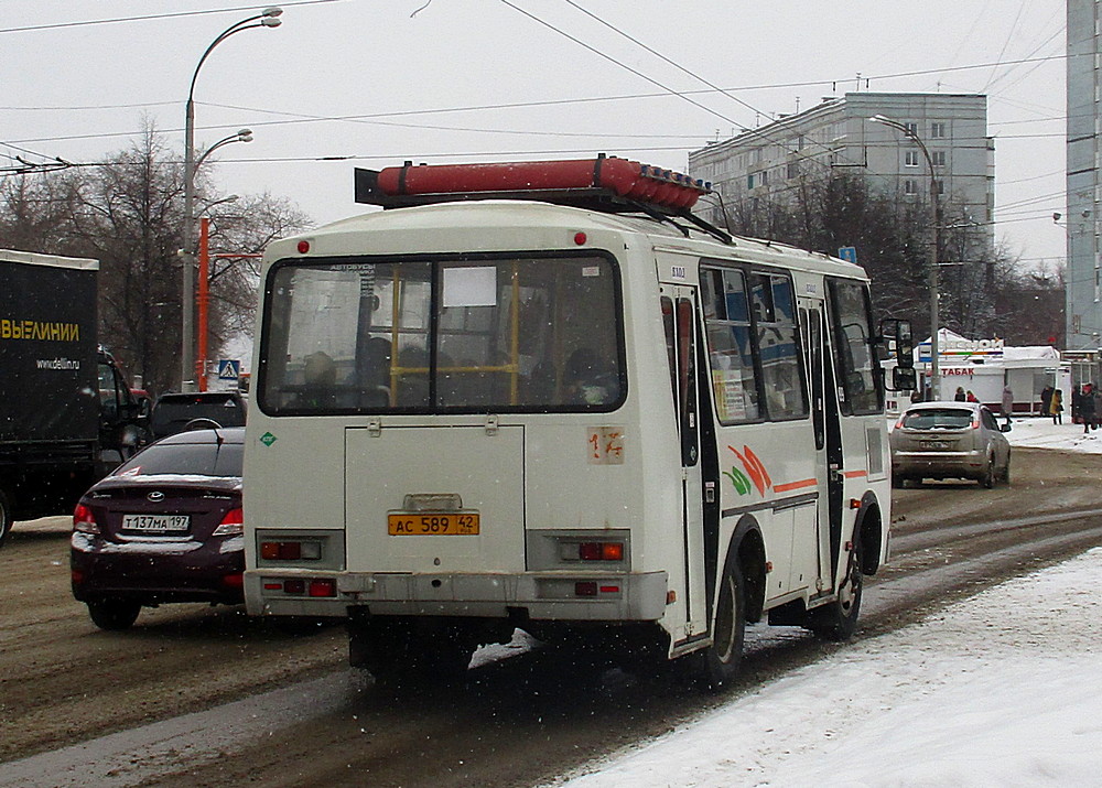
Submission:
MULTIPOLYGON (((270 194, 230 201, 198 173, 199 206, 212 218, 215 255, 259 253, 310 225, 270 194)), ((151 125, 101 164, 8 179, 0 188, 0 246, 100 261, 100 341, 154 392, 179 385, 183 166, 151 125)), ((212 349, 252 331, 258 261, 213 258, 212 349)))

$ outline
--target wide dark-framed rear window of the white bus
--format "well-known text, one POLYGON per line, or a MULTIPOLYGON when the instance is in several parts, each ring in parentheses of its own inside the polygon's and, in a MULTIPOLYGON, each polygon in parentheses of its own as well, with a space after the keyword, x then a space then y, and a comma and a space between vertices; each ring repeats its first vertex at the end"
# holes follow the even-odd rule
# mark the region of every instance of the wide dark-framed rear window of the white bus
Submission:
POLYGON ((607 411, 626 393, 605 257, 294 260, 268 289, 272 415, 607 411))

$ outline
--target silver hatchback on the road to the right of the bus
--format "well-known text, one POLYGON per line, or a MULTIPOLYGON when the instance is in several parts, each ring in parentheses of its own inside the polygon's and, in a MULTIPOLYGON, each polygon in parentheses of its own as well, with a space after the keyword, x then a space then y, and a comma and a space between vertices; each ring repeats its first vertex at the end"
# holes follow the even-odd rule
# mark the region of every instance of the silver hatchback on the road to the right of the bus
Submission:
POLYGON ((972 478, 984 487, 1011 481, 1011 444, 995 415, 973 402, 920 402, 892 430, 892 483, 972 478))

